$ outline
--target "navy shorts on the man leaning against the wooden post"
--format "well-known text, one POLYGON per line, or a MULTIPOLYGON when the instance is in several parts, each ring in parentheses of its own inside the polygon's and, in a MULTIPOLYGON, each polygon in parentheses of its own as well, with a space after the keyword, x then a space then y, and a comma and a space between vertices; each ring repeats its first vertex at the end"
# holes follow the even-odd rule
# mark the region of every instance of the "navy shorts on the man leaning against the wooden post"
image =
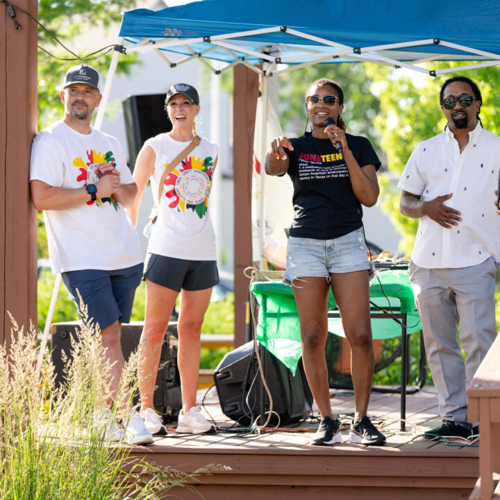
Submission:
POLYGON ((64 272, 61 276, 69 296, 76 303, 81 316, 80 299, 87 306, 88 319, 99 324, 101 330, 119 321, 130 322, 135 289, 142 277, 142 264, 115 271, 82 269, 64 272))

